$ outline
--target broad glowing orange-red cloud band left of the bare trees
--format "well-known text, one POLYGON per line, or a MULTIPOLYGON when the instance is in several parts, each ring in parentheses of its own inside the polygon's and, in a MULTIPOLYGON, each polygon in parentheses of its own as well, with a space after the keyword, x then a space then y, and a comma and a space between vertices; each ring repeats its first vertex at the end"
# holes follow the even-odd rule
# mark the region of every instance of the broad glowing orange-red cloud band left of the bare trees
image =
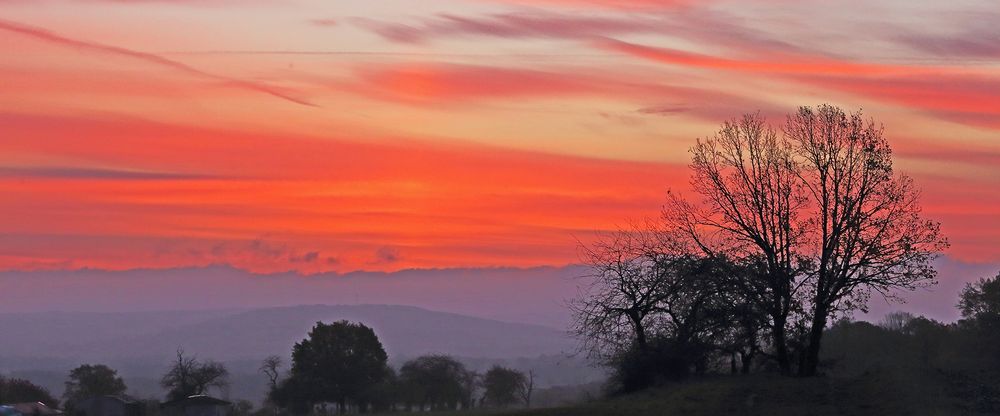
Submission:
MULTIPOLYGON (((680 166, 342 131, 255 135, 128 119, 4 114, 0 152, 143 177, 49 169, 0 175, 0 268, 127 269, 219 262, 256 271, 543 265, 575 260, 574 234, 654 215, 680 166), (363 138, 358 140, 355 138, 363 138), (82 174, 86 173, 86 174, 82 174), (284 245, 264 258, 239 242, 284 245), (228 244, 227 244, 228 242, 228 244), (236 244, 234 246, 234 244, 236 244), (397 261, 369 264, 391 246, 397 261), (309 253, 338 262, 303 261, 309 253)), ((270 246, 269 246, 270 247, 270 246)))

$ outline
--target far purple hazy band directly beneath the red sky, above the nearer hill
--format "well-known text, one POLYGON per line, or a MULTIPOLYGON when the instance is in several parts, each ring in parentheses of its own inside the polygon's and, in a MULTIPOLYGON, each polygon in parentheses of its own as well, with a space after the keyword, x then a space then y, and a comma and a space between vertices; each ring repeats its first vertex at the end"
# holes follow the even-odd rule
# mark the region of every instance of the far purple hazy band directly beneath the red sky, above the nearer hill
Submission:
MULTIPOLYGON (((579 266, 254 274, 230 266, 0 271, 0 313, 413 305, 563 328, 579 266), (516 299, 516 302, 512 302, 516 299)), ((0 328, 2 329, 2 328, 0 328)))

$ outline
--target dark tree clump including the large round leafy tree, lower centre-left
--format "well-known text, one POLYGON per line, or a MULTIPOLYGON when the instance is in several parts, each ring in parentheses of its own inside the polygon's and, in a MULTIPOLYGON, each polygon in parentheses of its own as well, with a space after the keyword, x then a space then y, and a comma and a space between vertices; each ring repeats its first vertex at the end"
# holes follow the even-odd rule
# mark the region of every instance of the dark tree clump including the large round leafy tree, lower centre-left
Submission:
POLYGON ((375 332, 347 321, 317 323, 295 344, 283 379, 280 364, 269 357, 261 366, 268 403, 292 414, 527 407, 534 390, 533 372, 494 365, 478 374, 446 355, 417 357, 396 371, 375 332))

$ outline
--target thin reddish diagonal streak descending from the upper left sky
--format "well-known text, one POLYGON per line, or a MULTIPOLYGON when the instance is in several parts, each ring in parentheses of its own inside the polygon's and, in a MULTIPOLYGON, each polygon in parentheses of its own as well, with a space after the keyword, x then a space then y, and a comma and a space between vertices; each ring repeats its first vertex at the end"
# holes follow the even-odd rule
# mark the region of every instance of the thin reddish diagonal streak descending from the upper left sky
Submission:
POLYGON ((156 64, 156 65, 160 65, 160 66, 164 66, 164 67, 168 67, 168 68, 173 68, 175 70, 178 70, 178 71, 181 71, 181 72, 185 72, 185 73, 188 73, 188 74, 191 74, 191 75, 199 76, 199 77, 202 77, 202 78, 208 78, 208 79, 213 79, 213 80, 218 80, 218 81, 224 81, 226 83, 229 83, 231 85, 235 85, 235 86, 243 88, 243 89, 247 89, 247 90, 251 90, 251 91, 257 91, 257 92, 262 92, 262 93, 265 93, 265 94, 268 94, 268 95, 271 95, 271 96, 274 96, 274 97, 281 98, 281 99, 286 100, 286 101, 291 101, 291 102, 296 103, 296 104, 306 105, 306 106, 310 106, 310 107, 318 107, 316 104, 313 104, 313 103, 311 103, 309 101, 306 101, 306 100, 303 100, 303 99, 300 99, 300 98, 296 98, 296 97, 290 96, 290 95, 285 94, 285 93, 283 93, 283 92, 281 92, 281 91, 279 91, 279 90, 277 90, 277 89, 275 89, 273 87, 270 87, 268 85, 258 84, 258 83, 255 83, 255 82, 244 81, 244 80, 235 79, 235 78, 229 78, 229 77, 222 76, 222 75, 211 74, 211 73, 202 71, 200 69, 188 66, 187 64, 184 64, 182 62, 178 62, 178 61, 174 61, 174 60, 171 60, 171 59, 167 59, 167 58, 164 58, 162 56, 154 55, 154 54, 151 54, 151 53, 135 51, 135 50, 121 48, 121 47, 117 47, 117 46, 104 45, 104 44, 100 44, 100 43, 96 43, 96 42, 88 42, 88 41, 83 41, 83 40, 77 40, 77 39, 67 38, 65 36, 58 35, 56 33, 53 33, 51 31, 48 31, 48 30, 45 30, 45 29, 41 29, 41 28, 37 28, 37 27, 31 27, 31 26, 24 26, 24 25, 21 25, 21 24, 18 24, 18 23, 13 23, 13 22, 4 21, 4 20, 0 20, 0 30, 6 30, 8 32, 14 32, 14 33, 18 33, 18 34, 25 35, 25 36, 30 36, 30 37, 33 37, 35 39, 39 39, 39 40, 43 40, 43 41, 46 41, 46 42, 55 43, 55 44, 59 44, 59 45, 71 46, 71 47, 80 48, 80 49, 88 49, 88 50, 92 50, 92 51, 96 51, 96 52, 110 53, 110 54, 115 54, 115 55, 119 55, 119 56, 126 56, 126 57, 133 58, 133 59, 139 59, 139 60, 150 62, 150 63, 156 64))

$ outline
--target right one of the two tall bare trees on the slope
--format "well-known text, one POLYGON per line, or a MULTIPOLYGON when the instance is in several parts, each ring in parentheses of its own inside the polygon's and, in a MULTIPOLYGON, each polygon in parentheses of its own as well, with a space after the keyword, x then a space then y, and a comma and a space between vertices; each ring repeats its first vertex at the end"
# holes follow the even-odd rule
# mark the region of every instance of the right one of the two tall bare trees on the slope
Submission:
POLYGON ((919 190, 896 174, 881 126, 860 112, 822 105, 790 115, 785 136, 795 145, 800 182, 807 189, 807 248, 813 268, 809 339, 799 369, 816 373, 828 318, 864 308, 872 292, 930 284, 930 261, 947 247, 939 224, 921 215, 919 190))

